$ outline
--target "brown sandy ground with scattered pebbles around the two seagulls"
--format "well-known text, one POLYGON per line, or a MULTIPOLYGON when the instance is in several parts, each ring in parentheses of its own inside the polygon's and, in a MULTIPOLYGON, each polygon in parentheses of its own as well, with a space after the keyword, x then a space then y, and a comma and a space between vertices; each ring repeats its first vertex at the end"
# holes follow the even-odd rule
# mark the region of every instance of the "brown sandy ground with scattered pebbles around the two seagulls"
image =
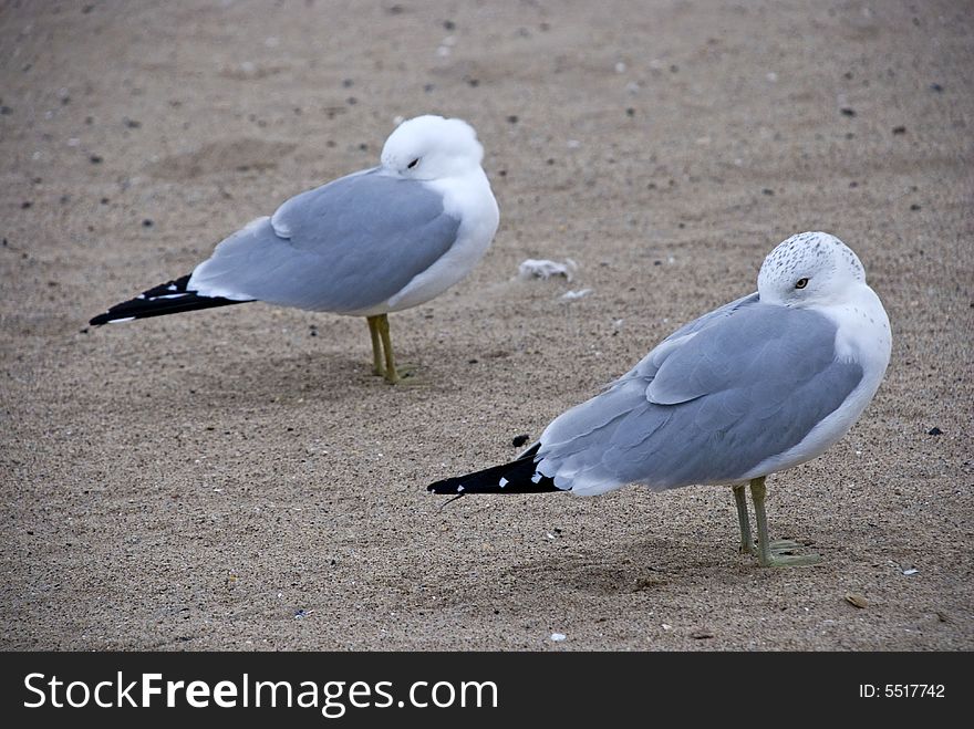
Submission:
POLYGON ((0 56, 2 647, 974 648, 972 3, 6 2, 0 56), (501 225, 391 319, 424 386, 370 375, 359 319, 87 329, 426 112, 475 125, 501 225), (821 564, 738 555, 723 488, 425 491, 808 229, 894 332, 861 420, 769 481, 821 564))

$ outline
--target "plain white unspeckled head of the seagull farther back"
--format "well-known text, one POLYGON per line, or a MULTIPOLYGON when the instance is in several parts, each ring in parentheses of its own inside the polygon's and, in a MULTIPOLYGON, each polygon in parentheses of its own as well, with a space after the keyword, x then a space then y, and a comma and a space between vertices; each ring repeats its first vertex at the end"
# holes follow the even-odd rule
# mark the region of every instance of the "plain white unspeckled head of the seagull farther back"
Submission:
POLYGON ((479 169, 484 147, 474 127, 462 119, 417 116, 388 135, 382 166, 413 179, 433 180, 479 169))

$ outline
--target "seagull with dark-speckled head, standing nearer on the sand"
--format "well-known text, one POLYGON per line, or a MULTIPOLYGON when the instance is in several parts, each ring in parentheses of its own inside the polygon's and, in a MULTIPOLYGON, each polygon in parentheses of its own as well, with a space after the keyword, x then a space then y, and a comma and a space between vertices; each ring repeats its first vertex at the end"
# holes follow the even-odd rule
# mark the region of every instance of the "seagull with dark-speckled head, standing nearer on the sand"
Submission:
POLYGON ((828 233, 779 243, 757 288, 676 330, 512 462, 427 490, 594 496, 626 483, 727 485, 742 552, 761 566, 814 564, 818 555, 794 554, 795 542, 768 541, 765 479, 816 458, 852 427, 889 364, 890 322, 859 258, 828 233))

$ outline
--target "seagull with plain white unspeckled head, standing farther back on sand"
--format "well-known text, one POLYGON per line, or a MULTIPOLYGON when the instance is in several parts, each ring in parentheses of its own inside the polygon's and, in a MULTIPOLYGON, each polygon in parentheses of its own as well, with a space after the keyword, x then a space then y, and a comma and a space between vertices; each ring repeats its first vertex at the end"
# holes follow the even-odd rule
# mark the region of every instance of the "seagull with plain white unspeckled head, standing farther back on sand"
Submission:
POLYGON ((292 197, 226 238, 191 273, 90 323, 248 301, 365 316, 373 373, 396 383, 387 314, 457 283, 497 231, 483 157, 476 132, 462 119, 405 121, 386 139, 377 167, 292 197))

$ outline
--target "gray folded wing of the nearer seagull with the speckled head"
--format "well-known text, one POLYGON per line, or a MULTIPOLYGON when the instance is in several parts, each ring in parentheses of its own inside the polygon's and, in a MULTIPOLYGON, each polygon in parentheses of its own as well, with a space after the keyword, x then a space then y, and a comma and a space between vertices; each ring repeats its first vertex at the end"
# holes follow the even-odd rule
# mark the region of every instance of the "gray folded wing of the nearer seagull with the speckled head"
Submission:
POLYGON ((719 312, 558 417, 539 470, 586 493, 734 481, 800 442, 862 378, 836 360, 836 326, 821 314, 756 300, 719 312))

